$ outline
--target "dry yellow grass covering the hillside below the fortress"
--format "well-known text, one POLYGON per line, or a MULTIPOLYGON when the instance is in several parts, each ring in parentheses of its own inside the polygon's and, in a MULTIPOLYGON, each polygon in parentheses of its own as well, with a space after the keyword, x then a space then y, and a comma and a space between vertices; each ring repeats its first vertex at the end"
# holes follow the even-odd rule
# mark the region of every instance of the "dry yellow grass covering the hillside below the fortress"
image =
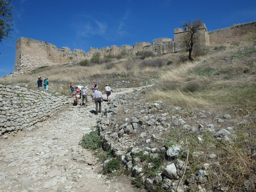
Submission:
MULTIPOLYGON (((28 88, 36 90, 37 76, 48 76, 49 92, 59 92, 67 96, 70 95, 70 81, 88 86, 96 81, 101 88, 106 83, 113 86, 115 84, 119 88, 156 84, 154 91, 150 92, 150 101, 162 100, 166 106, 175 105, 187 110, 206 109, 212 114, 226 113, 232 115, 234 122, 244 120, 243 123, 234 124, 237 137, 233 138, 233 145, 217 141, 207 133, 202 136, 204 143, 201 145, 196 135, 185 135, 187 133, 181 132, 175 135, 175 138, 180 140, 188 138, 191 153, 190 173, 204 163, 210 163, 208 155, 215 153, 220 165, 215 167, 219 175, 209 176, 212 185, 223 184, 228 187, 227 191, 244 191, 244 182, 253 184, 256 172, 255 159, 249 154, 250 148, 256 147, 256 51, 251 49, 252 52, 246 53, 255 38, 255 34, 248 34, 246 41, 240 45, 225 45, 225 49, 197 57, 193 63, 182 63, 180 54, 172 53, 162 55, 165 61, 172 61, 170 65, 142 69, 142 60, 129 56, 111 61, 115 66, 113 68, 104 64, 92 67, 54 66, 17 77, 1 78, 0 81, 10 85, 27 84, 28 88), (62 84, 65 86, 61 86, 62 84), (195 151, 202 151, 204 155, 193 156, 195 151)), ((151 62, 153 59, 155 58, 145 60, 151 62)), ((120 111, 116 118, 124 122, 124 116, 132 118, 136 113, 120 111)))

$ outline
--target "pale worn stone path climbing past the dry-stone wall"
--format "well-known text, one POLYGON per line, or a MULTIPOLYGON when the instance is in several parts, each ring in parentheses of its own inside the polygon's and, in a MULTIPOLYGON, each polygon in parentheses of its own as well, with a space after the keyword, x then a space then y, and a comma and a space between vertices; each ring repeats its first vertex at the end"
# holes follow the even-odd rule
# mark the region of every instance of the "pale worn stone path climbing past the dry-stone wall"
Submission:
POLYGON ((93 110, 92 102, 70 104, 32 129, 0 139, 0 191, 138 191, 130 182, 106 179, 92 152, 78 145, 100 118, 93 110))

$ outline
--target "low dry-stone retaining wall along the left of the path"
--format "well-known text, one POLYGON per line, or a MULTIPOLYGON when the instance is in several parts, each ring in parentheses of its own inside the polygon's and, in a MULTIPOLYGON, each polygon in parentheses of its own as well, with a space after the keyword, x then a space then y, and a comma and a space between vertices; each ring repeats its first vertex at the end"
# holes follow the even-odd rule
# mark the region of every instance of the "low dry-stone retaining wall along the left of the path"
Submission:
POLYGON ((0 84, 0 136, 26 129, 61 110, 68 100, 19 86, 0 84))

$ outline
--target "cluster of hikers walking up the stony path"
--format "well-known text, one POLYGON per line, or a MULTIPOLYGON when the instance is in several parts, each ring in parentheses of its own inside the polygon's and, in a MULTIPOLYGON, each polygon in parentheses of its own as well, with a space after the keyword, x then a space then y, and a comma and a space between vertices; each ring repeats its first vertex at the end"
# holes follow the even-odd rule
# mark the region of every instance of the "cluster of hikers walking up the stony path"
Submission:
MULTIPOLYGON (((79 98, 82 98, 81 105, 84 105, 84 100, 86 101, 86 104, 88 103, 87 96, 92 96, 93 101, 96 104, 96 115, 98 113, 101 113, 101 102, 103 102, 103 95, 100 91, 98 85, 96 82, 92 82, 92 95, 88 93, 88 86, 83 87, 81 84, 78 86, 74 86, 73 82, 70 82, 70 90, 71 90, 71 97, 74 97, 74 104, 79 106, 79 98)), ((111 88, 109 84, 106 84, 105 87, 105 94, 108 101, 110 101, 110 95, 111 95, 111 88)))

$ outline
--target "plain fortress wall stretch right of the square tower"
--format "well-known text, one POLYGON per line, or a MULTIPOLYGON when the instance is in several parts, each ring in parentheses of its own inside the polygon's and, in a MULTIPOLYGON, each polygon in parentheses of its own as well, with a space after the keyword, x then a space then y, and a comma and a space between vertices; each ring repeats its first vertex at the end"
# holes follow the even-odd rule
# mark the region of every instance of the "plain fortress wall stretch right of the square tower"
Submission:
POLYGON ((233 25, 225 29, 209 32, 211 45, 233 44, 240 42, 248 33, 256 33, 256 22, 233 25))

